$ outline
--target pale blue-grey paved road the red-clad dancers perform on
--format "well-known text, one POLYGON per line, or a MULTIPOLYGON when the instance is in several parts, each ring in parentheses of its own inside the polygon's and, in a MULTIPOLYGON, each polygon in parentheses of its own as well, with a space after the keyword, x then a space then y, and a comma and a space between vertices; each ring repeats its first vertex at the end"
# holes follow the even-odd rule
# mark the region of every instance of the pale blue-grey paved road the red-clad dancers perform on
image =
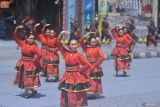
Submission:
MULTIPOLYGON (((58 82, 46 83, 41 77, 41 87, 32 99, 24 99, 23 90, 12 85, 19 50, 15 50, 12 41, 6 42, 8 44, 0 41, 0 107, 59 107, 58 82)), ((103 94, 89 100, 88 107, 160 107, 159 64, 160 58, 134 59, 128 77, 114 77, 114 62, 106 60, 103 63, 103 94)), ((61 59, 60 76, 63 65, 61 59)))

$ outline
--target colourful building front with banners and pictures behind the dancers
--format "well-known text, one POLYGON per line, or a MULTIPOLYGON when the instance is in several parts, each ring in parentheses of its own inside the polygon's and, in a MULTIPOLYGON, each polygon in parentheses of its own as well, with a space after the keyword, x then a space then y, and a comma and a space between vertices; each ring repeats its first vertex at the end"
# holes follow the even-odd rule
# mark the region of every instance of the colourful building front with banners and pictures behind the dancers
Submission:
POLYGON ((105 16, 112 17, 111 25, 112 22, 114 25, 128 17, 134 17, 137 26, 146 25, 151 18, 158 25, 159 2, 159 0, 64 0, 63 29, 70 30, 70 23, 77 18, 78 25, 84 33, 86 26, 94 23, 95 14, 98 14, 100 19, 105 16))

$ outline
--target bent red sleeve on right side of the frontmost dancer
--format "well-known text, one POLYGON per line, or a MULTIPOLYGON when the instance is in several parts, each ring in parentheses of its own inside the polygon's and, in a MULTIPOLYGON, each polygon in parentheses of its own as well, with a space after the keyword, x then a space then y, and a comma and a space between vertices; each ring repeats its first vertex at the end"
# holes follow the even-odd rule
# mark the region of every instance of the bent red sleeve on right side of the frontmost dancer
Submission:
POLYGON ((89 69, 90 63, 89 63, 88 60, 87 60, 83 55, 81 55, 81 54, 79 54, 78 58, 79 58, 80 64, 83 65, 83 66, 80 68, 79 72, 85 72, 87 69, 89 69))

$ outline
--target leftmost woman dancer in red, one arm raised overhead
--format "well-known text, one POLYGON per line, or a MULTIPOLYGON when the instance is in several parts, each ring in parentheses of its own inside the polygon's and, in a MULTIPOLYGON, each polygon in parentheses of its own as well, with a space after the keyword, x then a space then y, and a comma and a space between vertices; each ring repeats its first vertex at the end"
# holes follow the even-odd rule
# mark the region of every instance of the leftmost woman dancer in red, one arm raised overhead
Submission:
POLYGON ((39 60, 41 58, 41 51, 38 49, 34 41, 33 34, 23 34, 24 40, 19 39, 19 30, 24 28, 20 25, 16 27, 13 33, 13 39, 21 48, 21 59, 16 64, 17 74, 14 84, 25 89, 24 98, 33 97, 37 91, 35 88, 40 86, 39 79, 39 60), (29 91, 32 93, 29 94, 29 91))

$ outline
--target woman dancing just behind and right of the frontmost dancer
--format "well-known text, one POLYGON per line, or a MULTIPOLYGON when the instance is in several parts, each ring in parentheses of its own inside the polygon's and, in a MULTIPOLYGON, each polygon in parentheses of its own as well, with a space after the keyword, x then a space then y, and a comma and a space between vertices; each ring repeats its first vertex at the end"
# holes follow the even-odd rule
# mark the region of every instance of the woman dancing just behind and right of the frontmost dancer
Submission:
POLYGON ((89 32, 84 35, 80 39, 80 45, 86 53, 86 58, 91 63, 89 71, 91 90, 87 93, 90 94, 90 98, 95 98, 98 94, 102 94, 101 78, 103 71, 100 65, 105 60, 105 55, 99 47, 95 32, 89 32))

